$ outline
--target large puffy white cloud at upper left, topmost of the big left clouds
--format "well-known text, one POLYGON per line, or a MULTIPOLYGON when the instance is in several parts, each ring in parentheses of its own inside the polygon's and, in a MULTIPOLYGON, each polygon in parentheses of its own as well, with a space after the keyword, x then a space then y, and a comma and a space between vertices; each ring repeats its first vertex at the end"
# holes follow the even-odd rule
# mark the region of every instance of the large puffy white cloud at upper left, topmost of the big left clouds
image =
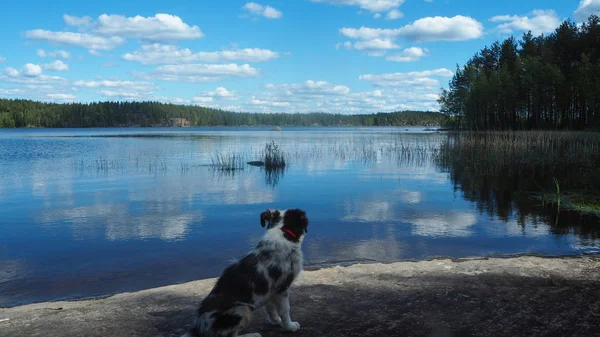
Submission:
POLYGON ((176 15, 162 13, 149 17, 102 14, 92 26, 93 31, 101 35, 148 41, 193 40, 204 36, 198 26, 190 26, 176 15))

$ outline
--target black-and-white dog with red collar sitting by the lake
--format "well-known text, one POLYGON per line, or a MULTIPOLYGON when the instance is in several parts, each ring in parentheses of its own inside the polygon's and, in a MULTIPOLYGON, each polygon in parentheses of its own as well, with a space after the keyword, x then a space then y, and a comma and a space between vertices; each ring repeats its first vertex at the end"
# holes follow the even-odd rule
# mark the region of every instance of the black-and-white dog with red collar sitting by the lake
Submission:
POLYGON ((246 256, 227 267, 212 291, 200 303, 196 319, 183 337, 261 337, 239 335, 263 308, 267 320, 294 332, 289 289, 303 268, 302 242, 308 218, 301 209, 266 210, 260 224, 267 231, 246 256))

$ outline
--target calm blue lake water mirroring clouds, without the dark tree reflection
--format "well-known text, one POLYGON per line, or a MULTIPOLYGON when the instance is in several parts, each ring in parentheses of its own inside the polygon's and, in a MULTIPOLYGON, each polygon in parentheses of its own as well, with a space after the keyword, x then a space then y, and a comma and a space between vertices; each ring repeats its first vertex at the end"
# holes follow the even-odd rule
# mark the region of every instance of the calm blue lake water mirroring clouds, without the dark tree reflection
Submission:
POLYGON ((468 174, 457 184, 433 160, 446 137, 423 128, 0 130, 0 307, 218 276, 262 235, 267 208, 307 211, 311 266, 599 251, 589 220, 486 207, 465 191, 468 174), (288 159, 282 172, 212 166, 217 155, 259 160, 271 141, 288 159))

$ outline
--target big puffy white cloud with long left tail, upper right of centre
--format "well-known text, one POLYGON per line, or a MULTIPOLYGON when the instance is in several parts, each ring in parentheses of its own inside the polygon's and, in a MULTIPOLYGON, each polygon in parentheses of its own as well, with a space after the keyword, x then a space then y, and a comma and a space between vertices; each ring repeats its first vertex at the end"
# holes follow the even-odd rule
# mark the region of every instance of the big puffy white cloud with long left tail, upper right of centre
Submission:
POLYGON ((477 20, 457 15, 454 17, 427 17, 397 29, 347 28, 340 33, 348 38, 360 40, 404 38, 409 41, 463 41, 483 35, 483 25, 477 20))

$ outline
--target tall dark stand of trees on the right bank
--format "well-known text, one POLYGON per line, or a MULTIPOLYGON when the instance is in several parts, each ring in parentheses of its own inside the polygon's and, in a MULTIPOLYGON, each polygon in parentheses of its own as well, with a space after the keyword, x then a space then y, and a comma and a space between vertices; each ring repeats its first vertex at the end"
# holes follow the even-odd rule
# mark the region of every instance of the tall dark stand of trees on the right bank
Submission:
POLYGON ((438 102, 472 130, 600 129, 600 18, 486 46, 438 102))

